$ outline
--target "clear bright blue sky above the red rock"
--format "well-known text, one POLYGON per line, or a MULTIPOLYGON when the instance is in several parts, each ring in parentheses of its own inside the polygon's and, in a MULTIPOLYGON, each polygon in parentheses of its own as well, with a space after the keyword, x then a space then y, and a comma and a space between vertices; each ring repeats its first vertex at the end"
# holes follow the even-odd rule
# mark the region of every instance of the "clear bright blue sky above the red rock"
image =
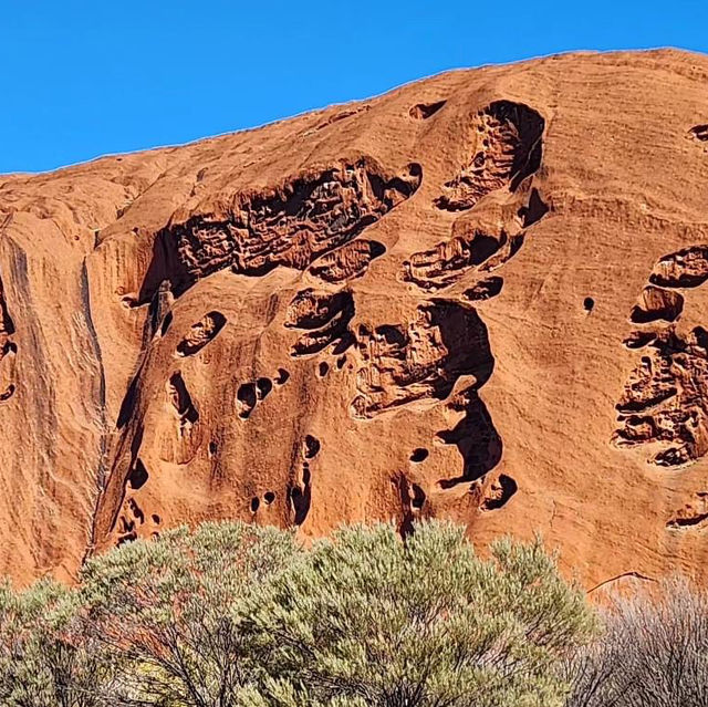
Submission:
POLYGON ((708 0, 0 0, 0 173, 251 127, 447 69, 708 52, 707 20, 708 0))

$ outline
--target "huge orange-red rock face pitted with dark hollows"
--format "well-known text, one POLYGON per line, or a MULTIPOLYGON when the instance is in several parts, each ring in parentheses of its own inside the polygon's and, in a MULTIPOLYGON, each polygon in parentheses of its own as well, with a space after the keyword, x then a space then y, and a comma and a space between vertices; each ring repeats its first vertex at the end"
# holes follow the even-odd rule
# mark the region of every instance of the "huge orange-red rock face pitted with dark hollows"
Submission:
POLYGON ((568 55, 0 177, 0 572, 437 517, 705 578, 707 86, 568 55))

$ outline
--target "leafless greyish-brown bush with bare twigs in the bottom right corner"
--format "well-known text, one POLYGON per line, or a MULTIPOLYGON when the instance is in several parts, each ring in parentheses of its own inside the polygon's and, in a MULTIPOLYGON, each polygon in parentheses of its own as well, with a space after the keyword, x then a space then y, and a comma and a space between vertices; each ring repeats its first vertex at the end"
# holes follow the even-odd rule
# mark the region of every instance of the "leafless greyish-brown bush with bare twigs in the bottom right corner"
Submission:
POLYGON ((708 705, 708 595, 681 580, 615 600, 604 630, 565 665, 568 707, 708 705))

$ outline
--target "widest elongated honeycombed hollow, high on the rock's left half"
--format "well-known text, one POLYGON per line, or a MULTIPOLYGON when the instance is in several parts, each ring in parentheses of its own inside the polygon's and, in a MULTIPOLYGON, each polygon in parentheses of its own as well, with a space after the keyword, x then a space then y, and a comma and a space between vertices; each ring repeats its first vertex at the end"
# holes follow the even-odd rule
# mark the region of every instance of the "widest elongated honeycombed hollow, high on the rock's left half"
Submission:
POLYGON ((364 156, 236 194, 218 216, 195 214, 160 231, 139 299, 152 297, 166 269, 177 294, 225 268, 253 277, 279 266, 305 270, 413 196, 421 178, 417 163, 396 174, 364 156))

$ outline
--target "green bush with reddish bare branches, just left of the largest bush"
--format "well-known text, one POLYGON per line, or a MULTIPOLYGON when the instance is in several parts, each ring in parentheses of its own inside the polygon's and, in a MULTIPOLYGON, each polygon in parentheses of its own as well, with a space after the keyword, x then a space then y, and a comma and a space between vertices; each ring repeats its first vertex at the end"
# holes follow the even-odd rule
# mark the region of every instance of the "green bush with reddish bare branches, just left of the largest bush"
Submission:
POLYGON ((93 559, 81 601, 92 635, 121 657, 125 704, 227 707, 248 697, 267 646, 241 627, 242 605, 296 552, 293 536, 205 523, 93 559))

